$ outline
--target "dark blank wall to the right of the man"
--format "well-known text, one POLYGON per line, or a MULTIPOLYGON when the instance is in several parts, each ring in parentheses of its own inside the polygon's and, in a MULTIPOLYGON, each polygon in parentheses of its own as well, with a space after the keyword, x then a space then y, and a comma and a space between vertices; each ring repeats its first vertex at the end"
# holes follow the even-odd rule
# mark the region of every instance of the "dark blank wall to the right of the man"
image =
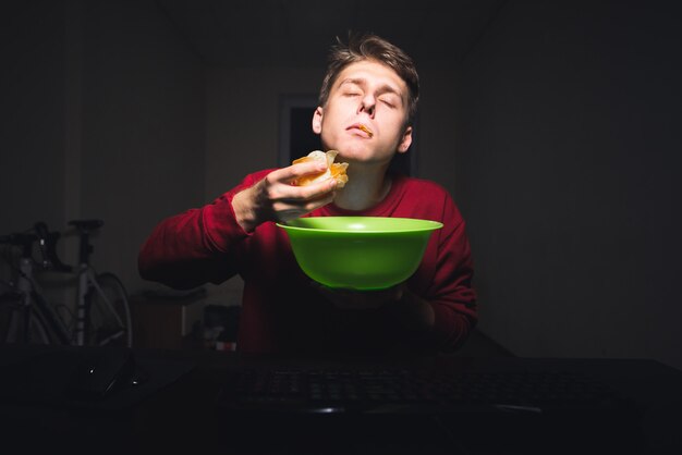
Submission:
POLYGON ((459 77, 482 330, 522 356, 682 367, 679 14, 508 2, 459 77))

